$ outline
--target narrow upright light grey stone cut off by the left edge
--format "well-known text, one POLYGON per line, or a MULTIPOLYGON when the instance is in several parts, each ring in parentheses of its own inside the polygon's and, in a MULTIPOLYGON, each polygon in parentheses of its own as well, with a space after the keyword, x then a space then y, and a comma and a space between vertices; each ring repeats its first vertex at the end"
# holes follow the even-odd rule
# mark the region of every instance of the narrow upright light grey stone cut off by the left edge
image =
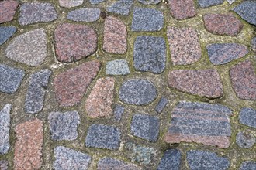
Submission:
POLYGON ((5 107, 0 110, 0 155, 7 154, 10 148, 9 131, 11 123, 11 110, 12 104, 6 104, 5 107))

